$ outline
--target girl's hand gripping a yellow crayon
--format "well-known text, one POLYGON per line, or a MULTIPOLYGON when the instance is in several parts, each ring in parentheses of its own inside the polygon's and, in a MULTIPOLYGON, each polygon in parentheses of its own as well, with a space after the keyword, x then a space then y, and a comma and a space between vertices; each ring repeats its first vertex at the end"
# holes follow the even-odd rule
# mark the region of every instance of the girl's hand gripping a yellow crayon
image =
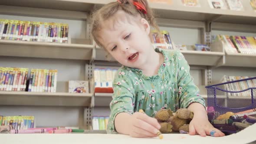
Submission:
POLYGON ((129 135, 131 137, 157 137, 161 128, 157 119, 140 112, 131 115, 129 125, 129 135))

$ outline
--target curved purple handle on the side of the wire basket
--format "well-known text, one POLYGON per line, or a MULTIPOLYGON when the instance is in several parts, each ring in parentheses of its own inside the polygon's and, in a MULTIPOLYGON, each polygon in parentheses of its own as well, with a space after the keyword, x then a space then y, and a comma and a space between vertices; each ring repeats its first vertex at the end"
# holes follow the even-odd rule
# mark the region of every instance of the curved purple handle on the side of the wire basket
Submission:
POLYGON ((219 107, 219 108, 224 108, 224 109, 236 109, 236 110, 237 110, 237 109, 245 109, 245 108, 251 108, 251 107, 253 107, 253 103, 254 103, 254 101, 253 101, 253 89, 255 89, 255 88, 247 88, 247 89, 245 89, 245 90, 243 90, 243 91, 239 91, 239 92, 245 92, 245 91, 248 91, 249 89, 251 90, 251 100, 252 100, 252 104, 249 105, 249 106, 247 106, 247 107, 243 107, 243 108, 226 108, 226 107, 222 107, 222 106, 220 106, 220 105, 217 105, 217 101, 216 101, 216 89, 218 89, 218 90, 220 90, 220 91, 224 91, 224 92, 231 92, 231 91, 226 91, 226 90, 224 90, 224 89, 217 88, 217 87, 214 87, 213 89, 214 89, 214 105, 217 106, 217 107, 219 107))

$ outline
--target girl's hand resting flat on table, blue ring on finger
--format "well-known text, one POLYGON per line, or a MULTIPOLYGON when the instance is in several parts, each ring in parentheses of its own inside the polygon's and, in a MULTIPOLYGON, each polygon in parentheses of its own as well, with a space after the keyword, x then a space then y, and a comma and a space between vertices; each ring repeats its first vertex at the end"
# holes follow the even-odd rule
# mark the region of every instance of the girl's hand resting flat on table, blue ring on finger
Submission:
POLYGON ((199 134, 202 137, 205 137, 206 135, 211 135, 210 133, 213 134, 212 136, 214 137, 225 136, 223 132, 213 127, 213 125, 208 121, 207 115, 204 112, 194 115, 189 124, 189 134, 199 134))

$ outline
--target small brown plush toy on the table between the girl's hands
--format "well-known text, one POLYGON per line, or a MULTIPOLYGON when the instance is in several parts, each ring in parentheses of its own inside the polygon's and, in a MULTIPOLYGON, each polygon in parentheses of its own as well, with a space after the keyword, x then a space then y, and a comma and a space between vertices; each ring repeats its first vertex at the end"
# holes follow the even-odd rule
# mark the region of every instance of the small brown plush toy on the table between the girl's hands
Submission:
POLYGON ((189 133, 189 123, 194 114, 187 108, 178 109, 175 113, 170 109, 161 109, 155 114, 155 118, 161 125, 160 132, 189 133))

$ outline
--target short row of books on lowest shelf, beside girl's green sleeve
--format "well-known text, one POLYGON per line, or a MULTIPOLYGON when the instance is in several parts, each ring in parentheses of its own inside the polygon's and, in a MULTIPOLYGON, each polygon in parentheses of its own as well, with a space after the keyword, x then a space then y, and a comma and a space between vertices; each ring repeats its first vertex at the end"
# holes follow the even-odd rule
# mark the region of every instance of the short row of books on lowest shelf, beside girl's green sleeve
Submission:
POLYGON ((106 130, 108 126, 109 117, 105 116, 93 116, 92 117, 92 129, 93 130, 106 130))

